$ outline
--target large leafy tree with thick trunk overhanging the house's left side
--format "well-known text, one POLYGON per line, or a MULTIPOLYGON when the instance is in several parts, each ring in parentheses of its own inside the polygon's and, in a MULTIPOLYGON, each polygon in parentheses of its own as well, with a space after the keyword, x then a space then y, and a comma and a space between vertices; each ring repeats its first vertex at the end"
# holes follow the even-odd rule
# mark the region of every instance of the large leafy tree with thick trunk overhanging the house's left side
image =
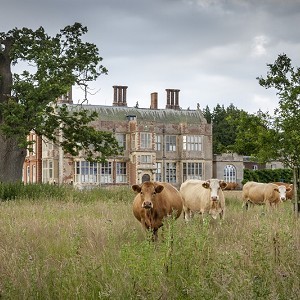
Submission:
POLYGON ((33 131, 63 147, 72 155, 83 150, 89 160, 105 161, 119 153, 109 132, 89 124, 95 112, 69 111, 57 98, 73 85, 87 91, 88 83, 107 70, 100 65, 98 48, 83 42, 87 28, 80 23, 66 26, 50 37, 43 27, 33 31, 14 28, 0 32, 0 181, 18 181, 33 131), (13 74, 12 66, 27 62, 30 69, 13 74), (58 139, 58 134, 61 139, 58 139))

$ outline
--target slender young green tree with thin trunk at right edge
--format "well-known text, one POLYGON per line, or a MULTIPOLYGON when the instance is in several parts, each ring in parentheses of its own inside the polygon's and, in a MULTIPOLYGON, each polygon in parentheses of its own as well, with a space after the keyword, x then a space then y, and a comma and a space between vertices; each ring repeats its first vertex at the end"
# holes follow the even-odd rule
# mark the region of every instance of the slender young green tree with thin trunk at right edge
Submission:
MULTIPOLYGON (((279 106, 274 111, 273 129, 277 157, 294 170, 295 211, 300 208, 300 68, 292 67, 291 59, 280 54, 274 64, 267 64, 267 76, 257 80, 266 89, 275 88, 279 106)), ((264 148, 267 145, 262 145, 264 148)))

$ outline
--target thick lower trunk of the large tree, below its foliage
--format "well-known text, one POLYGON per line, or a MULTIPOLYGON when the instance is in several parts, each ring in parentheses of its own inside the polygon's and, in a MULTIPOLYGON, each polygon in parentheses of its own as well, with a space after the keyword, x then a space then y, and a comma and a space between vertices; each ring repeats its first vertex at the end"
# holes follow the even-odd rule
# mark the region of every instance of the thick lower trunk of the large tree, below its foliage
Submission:
POLYGON ((13 138, 0 133, 0 182, 16 182, 22 179, 26 149, 20 149, 13 138))

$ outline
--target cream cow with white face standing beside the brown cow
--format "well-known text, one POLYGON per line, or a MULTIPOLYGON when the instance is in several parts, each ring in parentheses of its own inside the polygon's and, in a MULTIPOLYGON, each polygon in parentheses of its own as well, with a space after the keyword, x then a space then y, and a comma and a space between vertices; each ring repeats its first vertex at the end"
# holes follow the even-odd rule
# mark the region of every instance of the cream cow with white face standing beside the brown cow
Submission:
POLYGON ((182 183, 180 193, 183 200, 184 218, 188 221, 194 213, 208 213, 213 219, 224 218, 226 182, 219 179, 207 181, 190 179, 182 183))

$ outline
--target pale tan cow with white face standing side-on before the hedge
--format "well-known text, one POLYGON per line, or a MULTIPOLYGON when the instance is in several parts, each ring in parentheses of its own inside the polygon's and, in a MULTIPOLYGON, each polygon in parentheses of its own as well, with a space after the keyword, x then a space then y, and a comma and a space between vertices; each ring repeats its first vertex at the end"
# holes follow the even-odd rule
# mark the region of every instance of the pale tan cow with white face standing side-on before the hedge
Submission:
POLYGON ((284 185, 277 186, 273 183, 260 183, 248 181, 243 186, 242 197, 244 206, 248 209, 249 204, 268 204, 269 206, 278 206, 286 200, 286 188, 284 185))

